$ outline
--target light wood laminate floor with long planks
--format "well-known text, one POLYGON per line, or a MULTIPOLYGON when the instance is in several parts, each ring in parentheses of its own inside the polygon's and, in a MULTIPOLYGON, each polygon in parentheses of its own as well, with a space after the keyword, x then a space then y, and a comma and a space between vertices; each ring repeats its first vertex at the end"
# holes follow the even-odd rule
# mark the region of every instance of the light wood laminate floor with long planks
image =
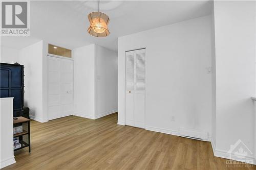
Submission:
POLYGON ((32 120, 31 147, 16 151, 17 162, 4 169, 256 169, 227 167, 210 142, 117 125, 116 113, 32 120))

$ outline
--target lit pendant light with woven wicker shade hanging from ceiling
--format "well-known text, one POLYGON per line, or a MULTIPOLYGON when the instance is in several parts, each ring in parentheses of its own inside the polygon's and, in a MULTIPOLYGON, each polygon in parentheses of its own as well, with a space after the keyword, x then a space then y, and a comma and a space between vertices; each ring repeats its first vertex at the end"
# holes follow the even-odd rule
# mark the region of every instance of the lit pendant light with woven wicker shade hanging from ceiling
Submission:
POLYGON ((110 34, 108 29, 108 24, 110 18, 108 15, 99 12, 99 2, 98 2, 98 12, 92 12, 88 15, 90 21, 90 27, 88 33, 95 37, 106 37, 110 34))

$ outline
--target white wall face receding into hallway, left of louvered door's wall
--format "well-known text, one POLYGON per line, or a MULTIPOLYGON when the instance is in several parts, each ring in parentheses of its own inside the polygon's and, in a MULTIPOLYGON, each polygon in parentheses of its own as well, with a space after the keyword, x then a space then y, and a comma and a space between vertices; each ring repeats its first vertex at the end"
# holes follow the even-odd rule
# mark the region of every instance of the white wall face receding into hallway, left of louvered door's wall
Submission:
POLYGON ((117 112, 117 52, 95 44, 95 118, 117 112))

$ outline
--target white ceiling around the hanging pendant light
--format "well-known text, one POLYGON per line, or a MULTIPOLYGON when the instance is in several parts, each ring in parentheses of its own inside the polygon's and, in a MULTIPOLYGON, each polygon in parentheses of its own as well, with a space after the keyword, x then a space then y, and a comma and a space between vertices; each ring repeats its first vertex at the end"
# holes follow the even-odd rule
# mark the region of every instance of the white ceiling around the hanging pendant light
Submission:
POLYGON ((117 51, 120 36, 170 23, 209 15, 210 1, 101 1, 100 10, 110 17, 110 35, 89 35, 88 14, 97 1, 31 1, 31 36, 1 37, 1 45, 23 48, 40 39, 73 49, 96 43, 117 51))

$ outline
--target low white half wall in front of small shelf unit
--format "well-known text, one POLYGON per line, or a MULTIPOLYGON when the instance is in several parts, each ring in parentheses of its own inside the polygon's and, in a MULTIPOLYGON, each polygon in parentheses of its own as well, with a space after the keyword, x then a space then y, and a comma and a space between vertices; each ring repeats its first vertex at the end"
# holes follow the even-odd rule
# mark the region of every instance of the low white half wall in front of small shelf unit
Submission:
POLYGON ((13 153, 13 98, 0 98, 0 168, 15 163, 13 153))

